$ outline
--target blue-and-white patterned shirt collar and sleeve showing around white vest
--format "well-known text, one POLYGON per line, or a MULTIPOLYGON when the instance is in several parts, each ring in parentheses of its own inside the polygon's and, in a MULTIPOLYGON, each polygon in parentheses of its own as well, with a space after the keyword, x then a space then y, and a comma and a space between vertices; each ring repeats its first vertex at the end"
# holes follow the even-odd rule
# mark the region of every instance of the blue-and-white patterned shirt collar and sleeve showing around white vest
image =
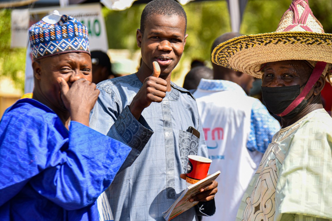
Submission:
MULTIPOLYGON (((240 85, 224 80, 202 80, 198 88, 211 91, 245 91, 240 85)), ((279 131, 280 125, 271 117, 267 108, 256 99, 251 109, 251 130, 249 133, 247 148, 250 151, 264 153, 273 135, 279 131)))

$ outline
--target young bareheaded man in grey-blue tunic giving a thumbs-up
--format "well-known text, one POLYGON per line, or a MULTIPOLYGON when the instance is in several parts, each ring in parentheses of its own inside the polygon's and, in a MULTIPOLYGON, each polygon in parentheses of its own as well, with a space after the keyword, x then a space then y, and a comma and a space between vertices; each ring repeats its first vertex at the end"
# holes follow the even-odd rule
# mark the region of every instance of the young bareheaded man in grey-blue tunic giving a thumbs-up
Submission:
MULTIPOLYGON (((171 82, 186 44, 186 27, 187 16, 178 2, 149 2, 136 32, 141 67, 135 74, 98 84, 90 127, 132 148, 97 200, 101 221, 164 221, 162 213, 187 187, 180 174, 185 177, 188 155, 207 157, 196 101, 171 82), (188 132, 189 127, 200 132, 200 139, 188 132)), ((213 181, 192 196, 189 201, 199 204, 173 220, 213 215, 217 186, 213 181)))

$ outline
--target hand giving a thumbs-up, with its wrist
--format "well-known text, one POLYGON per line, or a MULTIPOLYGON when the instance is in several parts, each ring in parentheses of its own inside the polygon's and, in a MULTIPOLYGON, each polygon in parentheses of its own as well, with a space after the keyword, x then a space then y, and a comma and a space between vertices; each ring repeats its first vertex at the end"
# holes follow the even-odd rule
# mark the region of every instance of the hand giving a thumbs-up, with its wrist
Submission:
POLYGON ((160 103, 166 96, 167 82, 159 78, 159 75, 159 64, 154 61, 152 75, 144 80, 142 87, 129 105, 130 112, 137 120, 144 108, 150 106, 152 102, 160 103))

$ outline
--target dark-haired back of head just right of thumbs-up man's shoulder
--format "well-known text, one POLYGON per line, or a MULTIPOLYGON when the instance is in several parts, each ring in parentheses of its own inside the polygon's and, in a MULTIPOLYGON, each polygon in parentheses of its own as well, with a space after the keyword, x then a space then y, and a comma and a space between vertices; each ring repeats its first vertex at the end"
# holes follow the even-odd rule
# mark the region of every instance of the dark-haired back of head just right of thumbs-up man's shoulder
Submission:
POLYGON ((185 77, 183 88, 187 90, 196 89, 202 78, 212 80, 212 69, 206 66, 197 66, 192 68, 185 77))

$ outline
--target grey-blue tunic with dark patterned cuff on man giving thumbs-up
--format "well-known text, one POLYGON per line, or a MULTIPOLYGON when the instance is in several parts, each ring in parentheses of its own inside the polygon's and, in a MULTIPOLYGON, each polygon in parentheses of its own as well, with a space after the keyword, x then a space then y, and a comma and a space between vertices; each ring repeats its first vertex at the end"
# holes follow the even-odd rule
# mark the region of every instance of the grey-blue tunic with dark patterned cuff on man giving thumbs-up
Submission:
MULTIPOLYGON (((90 127, 132 147, 122 171, 98 198, 101 220, 163 221, 162 213, 187 187, 180 178, 187 156, 208 156, 192 95, 171 83, 163 101, 151 103, 137 121, 128 105, 141 86, 135 74, 98 84, 90 127), (200 139, 187 132, 189 126, 199 130, 200 139)), ((214 201, 200 203, 173 220, 198 220, 197 214, 214 210, 214 201)))

